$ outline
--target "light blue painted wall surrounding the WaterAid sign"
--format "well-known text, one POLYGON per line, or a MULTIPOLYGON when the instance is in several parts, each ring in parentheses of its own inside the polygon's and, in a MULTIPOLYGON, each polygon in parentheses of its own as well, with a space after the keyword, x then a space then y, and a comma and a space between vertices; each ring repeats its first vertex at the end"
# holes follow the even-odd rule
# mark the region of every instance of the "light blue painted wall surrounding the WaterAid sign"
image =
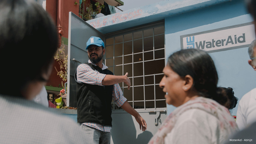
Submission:
MULTIPOLYGON (((165 18, 166 59, 181 49, 180 36, 251 22, 244 1, 231 1, 165 18)), ((235 96, 242 96, 256 87, 256 75, 249 66, 247 48, 210 53, 219 75, 218 86, 232 87, 235 96)), ((236 115, 237 107, 233 109, 236 115)), ((175 107, 167 106, 168 114, 175 107)))

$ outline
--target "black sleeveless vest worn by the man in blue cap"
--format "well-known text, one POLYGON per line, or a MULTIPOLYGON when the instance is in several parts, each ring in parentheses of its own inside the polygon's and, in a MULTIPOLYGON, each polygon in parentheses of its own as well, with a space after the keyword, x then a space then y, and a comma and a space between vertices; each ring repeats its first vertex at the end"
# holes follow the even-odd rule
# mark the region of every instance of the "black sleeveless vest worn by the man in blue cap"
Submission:
MULTIPOLYGON (((108 69, 102 70, 92 63, 87 65, 101 74, 113 75, 108 69)), ((113 85, 99 86, 77 82, 77 122, 112 126, 112 93, 113 85)))

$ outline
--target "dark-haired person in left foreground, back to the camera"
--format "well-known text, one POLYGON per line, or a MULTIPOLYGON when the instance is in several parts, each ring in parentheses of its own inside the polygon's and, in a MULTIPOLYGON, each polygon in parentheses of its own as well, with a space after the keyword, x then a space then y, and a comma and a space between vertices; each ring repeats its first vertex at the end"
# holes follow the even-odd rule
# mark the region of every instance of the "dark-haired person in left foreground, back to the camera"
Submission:
POLYGON ((89 143, 72 119, 32 101, 58 49, 50 15, 34 0, 1 0, 0 13, 0 143, 89 143))

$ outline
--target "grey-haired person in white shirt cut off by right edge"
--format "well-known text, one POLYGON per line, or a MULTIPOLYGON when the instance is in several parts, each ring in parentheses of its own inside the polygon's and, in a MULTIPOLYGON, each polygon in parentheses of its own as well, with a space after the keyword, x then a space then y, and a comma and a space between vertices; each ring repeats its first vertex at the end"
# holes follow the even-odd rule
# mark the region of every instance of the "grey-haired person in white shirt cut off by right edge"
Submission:
MULTIPOLYGON (((256 51, 255 51, 256 40, 254 40, 249 46, 248 53, 250 60, 249 65, 256 70, 256 51)), ((256 88, 246 93, 239 101, 236 123, 240 130, 249 126, 256 121, 256 88)))

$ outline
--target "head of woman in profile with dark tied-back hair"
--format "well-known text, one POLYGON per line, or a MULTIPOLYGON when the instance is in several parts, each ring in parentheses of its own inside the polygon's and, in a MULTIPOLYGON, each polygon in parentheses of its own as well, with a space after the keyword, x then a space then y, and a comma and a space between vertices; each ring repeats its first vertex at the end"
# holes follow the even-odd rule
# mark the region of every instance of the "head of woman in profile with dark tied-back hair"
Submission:
POLYGON ((218 92, 218 74, 209 54, 197 49, 180 50, 170 55, 160 82, 169 105, 178 107, 193 97, 205 97, 228 105, 218 92))

